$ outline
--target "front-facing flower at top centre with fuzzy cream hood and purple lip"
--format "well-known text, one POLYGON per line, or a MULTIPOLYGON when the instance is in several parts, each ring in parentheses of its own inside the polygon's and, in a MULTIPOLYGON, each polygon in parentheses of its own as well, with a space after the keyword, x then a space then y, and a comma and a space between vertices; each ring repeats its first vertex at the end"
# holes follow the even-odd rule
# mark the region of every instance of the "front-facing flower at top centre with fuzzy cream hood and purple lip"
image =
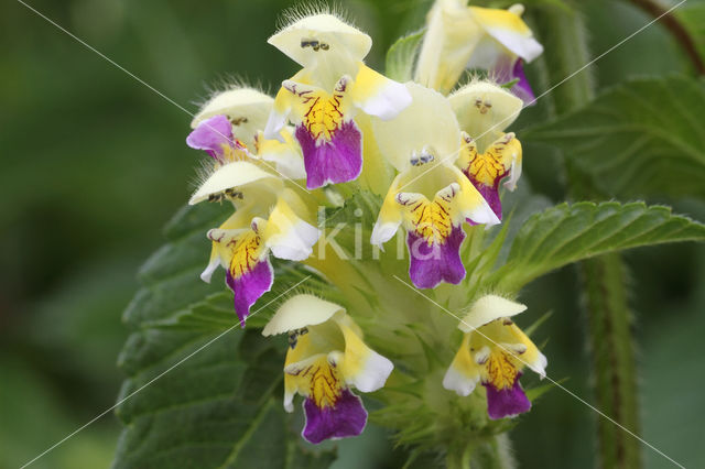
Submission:
POLYGON ((372 40, 333 14, 296 18, 269 43, 303 68, 282 83, 264 137, 276 138, 288 120, 295 126, 310 189, 357 178, 362 133, 356 113, 391 119, 411 102, 406 89, 362 63, 372 40))

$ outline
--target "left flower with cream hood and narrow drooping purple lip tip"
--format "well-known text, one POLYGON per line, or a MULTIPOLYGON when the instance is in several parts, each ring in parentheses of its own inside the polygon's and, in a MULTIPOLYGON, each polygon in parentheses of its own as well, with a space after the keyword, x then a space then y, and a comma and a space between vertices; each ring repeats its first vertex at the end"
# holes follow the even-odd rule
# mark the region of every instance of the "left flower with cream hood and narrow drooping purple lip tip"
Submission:
POLYGON ((250 307, 272 286, 274 272, 269 253, 280 259, 305 260, 319 231, 307 221, 311 215, 296 193, 248 161, 220 166, 189 204, 216 195, 230 200, 236 211, 218 229, 208 231, 213 249, 200 277, 209 282, 218 265, 225 269, 226 284, 235 294, 235 310, 245 327, 250 307))

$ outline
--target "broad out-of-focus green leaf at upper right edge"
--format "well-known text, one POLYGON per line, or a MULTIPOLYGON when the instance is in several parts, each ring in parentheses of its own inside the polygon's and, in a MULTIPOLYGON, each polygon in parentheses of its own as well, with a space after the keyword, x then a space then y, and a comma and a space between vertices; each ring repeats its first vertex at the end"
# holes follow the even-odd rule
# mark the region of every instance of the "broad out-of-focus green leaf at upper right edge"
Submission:
POLYGON ((633 79, 522 140, 560 148, 611 196, 705 196, 705 83, 633 79))

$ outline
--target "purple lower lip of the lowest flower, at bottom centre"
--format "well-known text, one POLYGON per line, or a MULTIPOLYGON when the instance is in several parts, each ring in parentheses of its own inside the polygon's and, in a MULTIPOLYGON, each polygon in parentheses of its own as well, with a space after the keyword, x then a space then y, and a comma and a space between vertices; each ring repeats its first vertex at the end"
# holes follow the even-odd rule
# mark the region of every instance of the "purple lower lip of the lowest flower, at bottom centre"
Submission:
POLYGON ((311 397, 304 401, 306 425, 301 435, 314 445, 328 438, 345 438, 362 433, 367 411, 362 401, 349 390, 343 390, 335 406, 318 408, 311 397))

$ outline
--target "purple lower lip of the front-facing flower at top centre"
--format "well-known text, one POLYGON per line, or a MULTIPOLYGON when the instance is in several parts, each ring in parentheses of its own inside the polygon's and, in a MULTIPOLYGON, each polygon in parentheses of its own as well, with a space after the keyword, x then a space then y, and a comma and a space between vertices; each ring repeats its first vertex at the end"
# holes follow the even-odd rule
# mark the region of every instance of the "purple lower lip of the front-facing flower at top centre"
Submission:
POLYGON ((352 181, 362 171, 362 134, 354 121, 345 121, 332 139, 316 139, 304 126, 296 127, 306 168, 306 188, 315 189, 328 183, 352 181))

